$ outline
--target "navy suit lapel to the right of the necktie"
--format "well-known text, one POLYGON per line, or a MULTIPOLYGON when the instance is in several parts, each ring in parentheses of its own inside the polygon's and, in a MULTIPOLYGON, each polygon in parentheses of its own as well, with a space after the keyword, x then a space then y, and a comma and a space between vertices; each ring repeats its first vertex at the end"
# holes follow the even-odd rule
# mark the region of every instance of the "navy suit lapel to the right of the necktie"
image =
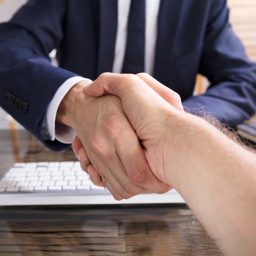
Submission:
POLYGON ((170 61, 182 4, 182 0, 160 2, 154 77, 166 86, 169 86, 170 61))

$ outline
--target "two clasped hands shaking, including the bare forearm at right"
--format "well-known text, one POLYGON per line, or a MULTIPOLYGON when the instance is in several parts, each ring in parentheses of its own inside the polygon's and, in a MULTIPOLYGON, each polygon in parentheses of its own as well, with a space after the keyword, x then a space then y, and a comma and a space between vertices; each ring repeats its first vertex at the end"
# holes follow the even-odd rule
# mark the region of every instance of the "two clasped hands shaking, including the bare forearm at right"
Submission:
POLYGON ((148 74, 103 73, 68 92, 57 121, 115 199, 173 187, 224 254, 255 255, 255 154, 186 113, 177 93, 148 74))

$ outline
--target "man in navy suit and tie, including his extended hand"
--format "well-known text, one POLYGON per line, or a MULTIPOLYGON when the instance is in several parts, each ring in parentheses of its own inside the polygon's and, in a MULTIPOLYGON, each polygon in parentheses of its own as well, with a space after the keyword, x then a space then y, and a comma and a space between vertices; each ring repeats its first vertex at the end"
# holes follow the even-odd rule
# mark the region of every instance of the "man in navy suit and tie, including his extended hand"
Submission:
POLYGON ((120 99, 83 95, 104 72, 147 72, 230 126, 256 112, 256 65, 225 0, 30 0, 0 25, 0 104, 52 150, 77 134, 96 170, 117 177, 107 184, 117 198, 169 187, 156 182, 120 99), (197 73, 211 87, 192 97, 197 73))

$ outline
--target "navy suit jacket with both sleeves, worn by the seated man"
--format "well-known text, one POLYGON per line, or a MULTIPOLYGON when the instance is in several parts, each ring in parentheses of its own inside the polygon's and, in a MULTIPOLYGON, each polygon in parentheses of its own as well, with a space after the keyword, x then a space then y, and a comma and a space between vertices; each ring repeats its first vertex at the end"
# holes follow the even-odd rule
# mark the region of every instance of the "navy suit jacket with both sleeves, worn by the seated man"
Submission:
MULTIPOLYGON (((0 24, 0 105, 43 139, 47 105, 60 85, 81 75, 111 72, 117 28, 115 0, 30 0, 0 24), (57 49, 59 67, 48 54, 57 49)), ((228 22, 225 0, 161 0, 154 77, 183 105, 204 107, 234 126, 256 112, 256 65, 228 22), (211 87, 192 97, 197 73, 211 87)), ((195 112, 197 110, 194 110, 195 112)))

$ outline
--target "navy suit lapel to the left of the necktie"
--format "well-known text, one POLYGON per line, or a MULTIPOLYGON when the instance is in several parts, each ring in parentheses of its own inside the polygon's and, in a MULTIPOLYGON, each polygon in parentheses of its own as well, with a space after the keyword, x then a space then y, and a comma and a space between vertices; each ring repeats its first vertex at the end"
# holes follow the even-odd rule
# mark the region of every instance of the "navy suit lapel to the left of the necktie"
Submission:
POLYGON ((117 0, 100 0, 97 76, 112 72, 117 34, 117 0))

